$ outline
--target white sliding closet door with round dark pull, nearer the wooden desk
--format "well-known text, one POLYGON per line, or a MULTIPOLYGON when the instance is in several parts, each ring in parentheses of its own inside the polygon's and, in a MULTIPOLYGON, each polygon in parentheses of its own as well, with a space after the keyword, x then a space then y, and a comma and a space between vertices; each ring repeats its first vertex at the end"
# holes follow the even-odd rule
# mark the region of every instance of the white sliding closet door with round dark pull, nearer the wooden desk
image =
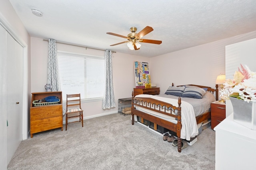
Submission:
POLYGON ((7 162, 22 141, 23 48, 6 35, 7 56, 7 162))

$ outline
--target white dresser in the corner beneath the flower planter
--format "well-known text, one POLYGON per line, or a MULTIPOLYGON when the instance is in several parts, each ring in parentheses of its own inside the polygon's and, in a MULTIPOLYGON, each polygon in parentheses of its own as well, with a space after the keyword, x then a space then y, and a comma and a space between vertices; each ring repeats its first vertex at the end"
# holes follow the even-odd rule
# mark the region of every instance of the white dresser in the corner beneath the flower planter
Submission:
POLYGON ((233 121, 233 113, 214 128, 216 170, 255 170, 256 131, 233 121))

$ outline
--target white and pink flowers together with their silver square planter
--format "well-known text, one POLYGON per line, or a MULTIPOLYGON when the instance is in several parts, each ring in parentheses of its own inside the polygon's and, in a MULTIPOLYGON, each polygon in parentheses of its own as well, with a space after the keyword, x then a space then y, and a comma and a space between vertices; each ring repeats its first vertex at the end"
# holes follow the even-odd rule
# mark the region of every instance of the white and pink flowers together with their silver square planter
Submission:
POLYGON ((252 72, 246 65, 240 64, 240 67, 233 80, 225 81, 221 96, 230 98, 236 123, 256 130, 256 72, 252 72))

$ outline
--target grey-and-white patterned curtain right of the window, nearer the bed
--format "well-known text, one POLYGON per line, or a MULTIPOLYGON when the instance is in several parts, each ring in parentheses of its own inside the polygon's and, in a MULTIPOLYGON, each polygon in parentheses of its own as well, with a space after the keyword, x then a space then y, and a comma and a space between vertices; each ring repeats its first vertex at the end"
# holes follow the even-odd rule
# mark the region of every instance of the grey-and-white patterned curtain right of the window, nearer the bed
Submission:
POLYGON ((116 107, 114 98, 114 86, 113 86, 113 73, 112 73, 112 52, 106 49, 104 54, 105 59, 105 89, 103 94, 103 109, 110 109, 116 107))

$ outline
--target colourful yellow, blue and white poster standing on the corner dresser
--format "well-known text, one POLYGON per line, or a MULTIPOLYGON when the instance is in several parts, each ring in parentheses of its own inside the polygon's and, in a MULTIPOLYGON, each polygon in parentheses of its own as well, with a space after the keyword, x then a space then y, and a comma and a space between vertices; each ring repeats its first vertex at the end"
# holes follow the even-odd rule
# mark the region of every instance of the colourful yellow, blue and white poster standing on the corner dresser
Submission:
POLYGON ((148 63, 134 61, 134 73, 136 88, 151 88, 148 63))

